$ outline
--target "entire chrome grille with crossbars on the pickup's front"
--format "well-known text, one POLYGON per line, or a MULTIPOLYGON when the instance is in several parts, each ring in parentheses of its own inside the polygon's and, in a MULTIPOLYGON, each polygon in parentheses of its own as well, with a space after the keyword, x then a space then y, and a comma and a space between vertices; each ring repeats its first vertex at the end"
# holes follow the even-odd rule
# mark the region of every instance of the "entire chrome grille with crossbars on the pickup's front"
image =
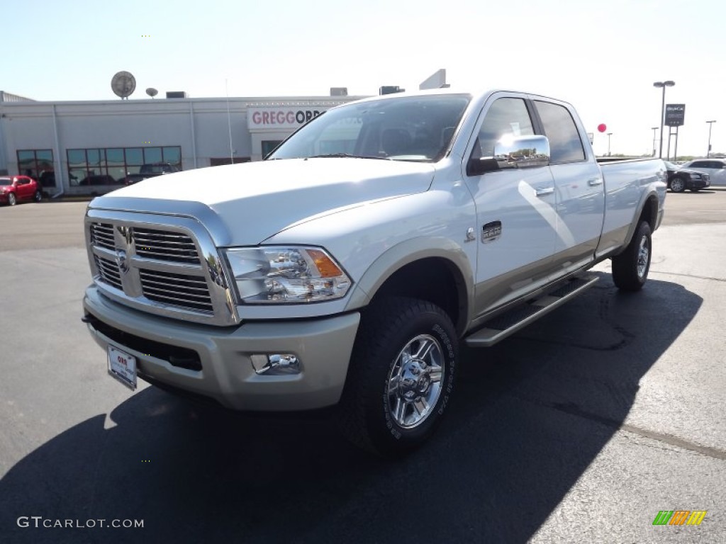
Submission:
POLYGON ((89 209, 86 241, 94 282, 110 299, 195 323, 240 323, 218 250, 200 221, 89 209))

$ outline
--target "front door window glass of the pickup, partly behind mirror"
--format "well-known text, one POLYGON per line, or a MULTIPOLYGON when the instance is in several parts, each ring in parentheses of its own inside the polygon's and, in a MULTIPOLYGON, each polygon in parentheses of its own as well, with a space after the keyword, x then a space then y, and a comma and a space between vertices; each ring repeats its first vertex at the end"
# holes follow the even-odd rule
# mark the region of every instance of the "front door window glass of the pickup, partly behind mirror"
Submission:
POLYGON ((494 144, 503 136, 532 136, 534 128, 521 98, 500 98, 494 101, 481 123, 478 144, 472 157, 494 157, 494 144))

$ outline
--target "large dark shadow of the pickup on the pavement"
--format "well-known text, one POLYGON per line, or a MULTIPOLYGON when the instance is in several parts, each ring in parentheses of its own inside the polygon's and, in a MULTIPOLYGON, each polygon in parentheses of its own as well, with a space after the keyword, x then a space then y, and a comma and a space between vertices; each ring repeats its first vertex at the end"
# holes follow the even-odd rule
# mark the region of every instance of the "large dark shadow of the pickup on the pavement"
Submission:
POLYGON ((678 284, 621 294, 601 276, 496 347, 462 347, 449 416, 404 460, 359 452, 327 419, 241 417, 147 388, 113 423, 83 421, 9 470, 4 541, 526 542, 701 306, 678 284), (18 516, 144 527, 20 528, 18 516))

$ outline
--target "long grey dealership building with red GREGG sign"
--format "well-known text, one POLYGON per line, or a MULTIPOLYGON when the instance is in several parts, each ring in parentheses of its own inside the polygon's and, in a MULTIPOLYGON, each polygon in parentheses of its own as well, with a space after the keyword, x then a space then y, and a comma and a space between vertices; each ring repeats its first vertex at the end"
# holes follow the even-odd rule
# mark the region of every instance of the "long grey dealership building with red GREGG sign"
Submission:
POLYGON ((362 96, 36 102, 0 91, 0 175, 51 195, 102 194, 144 164, 261 160, 296 128, 362 96))

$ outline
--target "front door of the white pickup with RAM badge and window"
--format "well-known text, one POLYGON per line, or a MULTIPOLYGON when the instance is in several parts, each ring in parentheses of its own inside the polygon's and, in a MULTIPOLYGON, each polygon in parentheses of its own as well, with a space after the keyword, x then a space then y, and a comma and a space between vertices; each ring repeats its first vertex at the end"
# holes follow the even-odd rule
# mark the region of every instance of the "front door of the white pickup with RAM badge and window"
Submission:
MULTIPOLYGON (((484 105, 465 162, 492 157, 505 136, 534 135, 525 95, 496 93, 484 105)), ((466 168, 464 168, 466 170, 466 168)), ((548 166, 468 176, 476 202, 477 316, 531 292, 550 276, 555 185, 548 166)))

